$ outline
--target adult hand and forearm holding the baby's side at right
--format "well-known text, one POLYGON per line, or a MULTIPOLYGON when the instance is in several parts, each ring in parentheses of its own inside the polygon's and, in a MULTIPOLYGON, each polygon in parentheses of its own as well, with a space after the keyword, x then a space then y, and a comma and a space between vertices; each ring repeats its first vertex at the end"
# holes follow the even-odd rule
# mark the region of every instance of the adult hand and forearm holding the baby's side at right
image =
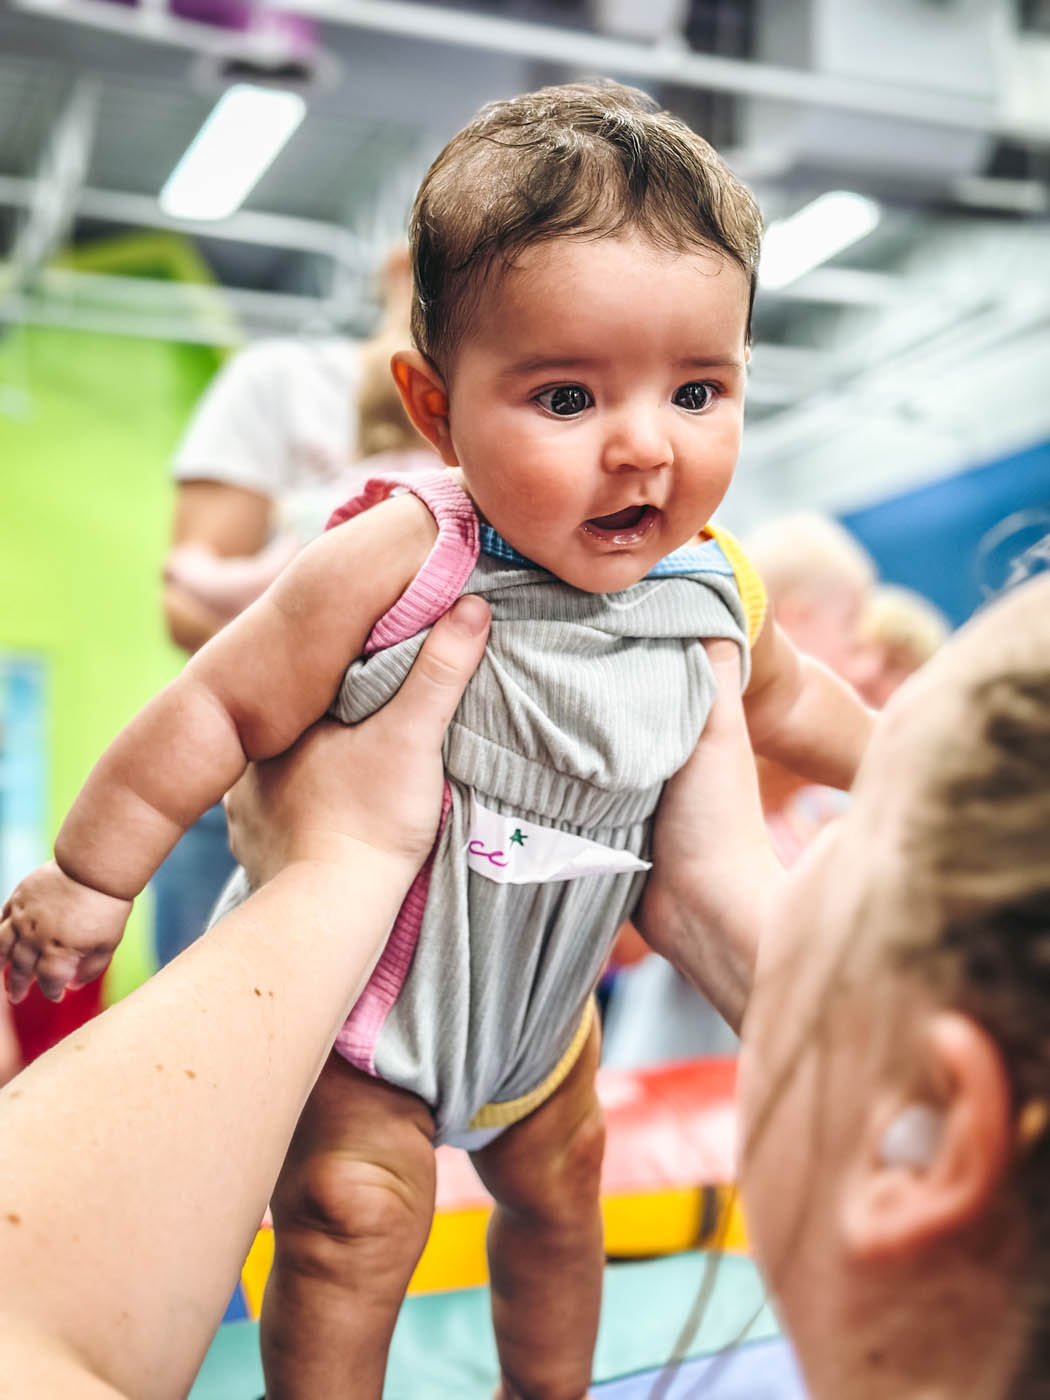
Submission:
POLYGON ((707 652, 718 694, 693 756, 664 790, 636 923, 739 1030, 762 921, 784 871, 759 802, 739 652, 731 641, 708 643, 707 652))

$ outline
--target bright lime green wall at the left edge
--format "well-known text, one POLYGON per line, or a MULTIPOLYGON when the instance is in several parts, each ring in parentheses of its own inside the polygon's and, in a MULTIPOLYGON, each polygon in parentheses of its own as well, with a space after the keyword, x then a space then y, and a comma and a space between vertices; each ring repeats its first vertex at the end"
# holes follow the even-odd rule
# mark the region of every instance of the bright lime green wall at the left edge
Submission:
MULTIPOLYGON (((0 336, 0 648, 49 662, 50 836, 113 734, 179 666, 160 594, 168 461, 216 364, 213 350, 155 340, 0 336)), ((132 916, 109 1000, 150 970, 147 916, 132 916)))

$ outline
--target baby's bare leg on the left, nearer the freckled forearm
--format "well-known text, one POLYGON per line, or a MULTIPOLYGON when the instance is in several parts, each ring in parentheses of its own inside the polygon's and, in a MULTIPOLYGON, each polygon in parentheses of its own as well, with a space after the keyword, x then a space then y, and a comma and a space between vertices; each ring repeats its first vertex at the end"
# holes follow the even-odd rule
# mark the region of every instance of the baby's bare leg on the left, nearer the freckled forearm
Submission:
POLYGON ((434 1212, 434 1124, 412 1093, 329 1056, 273 1196, 266 1400, 378 1400, 434 1212))

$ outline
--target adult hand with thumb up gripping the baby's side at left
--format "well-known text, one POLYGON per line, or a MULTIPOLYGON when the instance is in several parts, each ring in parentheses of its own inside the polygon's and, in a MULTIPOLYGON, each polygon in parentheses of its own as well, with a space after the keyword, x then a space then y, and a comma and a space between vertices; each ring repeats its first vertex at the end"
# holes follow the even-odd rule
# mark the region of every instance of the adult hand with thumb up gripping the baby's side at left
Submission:
POLYGON ((398 694, 361 724, 322 720, 227 794, 230 844, 255 886, 293 860, 361 847, 414 871, 441 815, 441 741, 484 651, 489 609, 461 598, 431 629, 398 694))

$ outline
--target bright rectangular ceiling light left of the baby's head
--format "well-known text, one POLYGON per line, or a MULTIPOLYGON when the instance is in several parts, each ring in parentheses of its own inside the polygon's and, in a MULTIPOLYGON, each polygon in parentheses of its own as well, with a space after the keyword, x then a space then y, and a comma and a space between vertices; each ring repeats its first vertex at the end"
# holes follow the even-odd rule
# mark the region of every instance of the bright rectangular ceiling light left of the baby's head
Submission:
POLYGON ((160 193, 171 218, 239 209, 307 112, 298 92, 237 83, 216 102, 160 193))

